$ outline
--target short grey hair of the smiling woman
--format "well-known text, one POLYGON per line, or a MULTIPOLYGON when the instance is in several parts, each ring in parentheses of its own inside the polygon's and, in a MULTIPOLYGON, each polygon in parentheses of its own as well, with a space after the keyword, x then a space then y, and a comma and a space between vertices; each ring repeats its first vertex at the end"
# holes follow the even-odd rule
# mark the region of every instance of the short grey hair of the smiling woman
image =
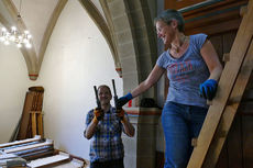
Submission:
POLYGON ((178 31, 184 32, 185 31, 185 20, 182 13, 174 9, 167 9, 163 11, 161 14, 158 14, 158 16, 154 19, 154 24, 156 24, 157 21, 163 21, 166 24, 170 24, 173 20, 177 21, 178 31))

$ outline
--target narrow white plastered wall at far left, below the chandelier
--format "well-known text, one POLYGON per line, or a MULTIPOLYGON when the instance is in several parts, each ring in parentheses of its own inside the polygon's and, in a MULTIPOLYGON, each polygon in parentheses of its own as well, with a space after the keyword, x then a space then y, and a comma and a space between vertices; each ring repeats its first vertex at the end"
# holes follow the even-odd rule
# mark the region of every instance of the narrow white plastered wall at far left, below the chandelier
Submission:
POLYGON ((0 143, 9 142, 14 132, 31 83, 21 52, 0 43, 0 143))

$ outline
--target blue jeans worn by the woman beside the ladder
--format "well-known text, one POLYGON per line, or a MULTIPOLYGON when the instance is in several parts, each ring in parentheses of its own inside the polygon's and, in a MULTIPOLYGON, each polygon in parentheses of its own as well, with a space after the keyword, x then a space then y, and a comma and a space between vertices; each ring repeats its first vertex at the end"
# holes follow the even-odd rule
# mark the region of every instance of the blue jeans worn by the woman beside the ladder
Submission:
POLYGON ((164 168, 186 168, 208 109, 168 102, 164 105, 162 124, 165 136, 164 168))

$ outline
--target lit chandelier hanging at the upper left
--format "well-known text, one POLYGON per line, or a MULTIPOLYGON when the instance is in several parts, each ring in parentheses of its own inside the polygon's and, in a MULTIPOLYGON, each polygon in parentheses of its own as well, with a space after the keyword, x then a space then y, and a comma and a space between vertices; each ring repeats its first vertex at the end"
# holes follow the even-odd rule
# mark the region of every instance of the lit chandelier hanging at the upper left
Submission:
MULTIPOLYGON (((18 12, 18 23, 21 21, 21 3, 22 0, 20 0, 20 10, 18 12)), ((16 24, 18 25, 18 24, 16 24)), ((1 34, 0 34, 0 41, 9 45, 10 43, 16 44, 16 47, 21 48, 22 46, 25 46, 26 48, 31 48, 31 37, 32 35, 29 33, 29 31, 19 32, 19 30, 15 26, 12 26, 10 30, 2 27, 1 34)))

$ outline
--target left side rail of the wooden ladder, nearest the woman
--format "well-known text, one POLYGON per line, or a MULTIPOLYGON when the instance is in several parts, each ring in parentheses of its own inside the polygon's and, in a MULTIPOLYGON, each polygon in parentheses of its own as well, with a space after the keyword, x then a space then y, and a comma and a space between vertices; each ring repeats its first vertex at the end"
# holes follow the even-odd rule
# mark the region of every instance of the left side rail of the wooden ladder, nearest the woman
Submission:
MULTIPOLYGON (((198 137, 198 145, 195 147, 190 157, 188 168, 201 168, 210 148, 211 141, 220 122, 222 112, 233 89, 234 81, 244 59, 248 46, 251 43, 253 34, 253 2, 248 5, 248 13, 243 16, 242 23, 230 52, 230 61, 226 64, 219 81, 219 88, 216 99, 209 108, 207 117, 198 137), (222 88, 222 89, 221 89, 222 88)), ((233 107, 229 107, 233 110, 233 107)))

